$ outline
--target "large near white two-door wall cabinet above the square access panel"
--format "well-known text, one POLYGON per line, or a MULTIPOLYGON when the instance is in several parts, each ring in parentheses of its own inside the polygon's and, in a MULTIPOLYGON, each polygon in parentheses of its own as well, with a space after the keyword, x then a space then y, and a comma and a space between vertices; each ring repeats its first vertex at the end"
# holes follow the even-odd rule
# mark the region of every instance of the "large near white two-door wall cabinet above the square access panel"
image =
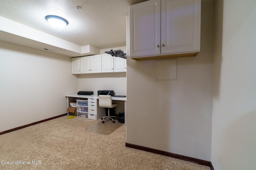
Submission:
POLYGON ((129 12, 131 58, 196 56, 200 51, 201 0, 148 0, 129 12))

